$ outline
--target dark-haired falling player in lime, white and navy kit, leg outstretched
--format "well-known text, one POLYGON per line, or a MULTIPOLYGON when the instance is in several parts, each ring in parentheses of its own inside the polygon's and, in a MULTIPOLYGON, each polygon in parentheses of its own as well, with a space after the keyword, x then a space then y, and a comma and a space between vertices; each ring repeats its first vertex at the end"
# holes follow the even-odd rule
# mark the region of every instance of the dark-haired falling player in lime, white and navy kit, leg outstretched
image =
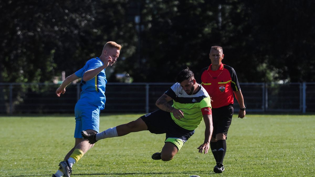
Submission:
POLYGON ((109 128, 101 133, 82 131, 82 136, 91 144, 96 141, 123 136, 131 132, 149 130, 154 134, 166 134, 161 152, 154 153, 152 159, 172 160, 183 144, 194 134, 202 119, 206 125, 204 142, 199 153, 208 153, 212 135, 211 99, 207 91, 196 82, 191 70, 184 69, 176 77, 175 83, 156 102, 159 110, 139 117, 137 120, 109 128), (173 100, 173 105, 168 102, 173 100))

